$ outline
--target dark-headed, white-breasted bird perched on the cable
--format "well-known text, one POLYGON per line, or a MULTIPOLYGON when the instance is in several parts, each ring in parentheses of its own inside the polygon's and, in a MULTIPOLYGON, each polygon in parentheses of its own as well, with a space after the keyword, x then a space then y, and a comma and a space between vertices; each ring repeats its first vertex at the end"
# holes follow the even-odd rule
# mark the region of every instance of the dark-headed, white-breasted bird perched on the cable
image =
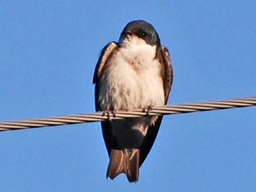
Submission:
MULTIPOLYGON (((167 103, 173 82, 168 49, 161 46, 154 27, 132 21, 118 42, 109 42, 94 72, 96 111, 150 109, 167 103)), ((162 116, 144 116, 101 122, 109 164, 107 177, 126 174, 138 181, 139 167, 153 146, 162 116)))

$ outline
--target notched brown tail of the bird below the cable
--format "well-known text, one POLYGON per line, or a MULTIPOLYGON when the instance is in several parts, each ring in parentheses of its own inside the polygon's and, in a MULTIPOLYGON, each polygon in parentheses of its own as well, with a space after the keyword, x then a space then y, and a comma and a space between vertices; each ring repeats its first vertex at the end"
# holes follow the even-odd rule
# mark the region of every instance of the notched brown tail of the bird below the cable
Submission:
POLYGON ((107 169, 107 177, 114 179, 125 173, 129 182, 136 182, 139 178, 139 150, 111 150, 107 169))

